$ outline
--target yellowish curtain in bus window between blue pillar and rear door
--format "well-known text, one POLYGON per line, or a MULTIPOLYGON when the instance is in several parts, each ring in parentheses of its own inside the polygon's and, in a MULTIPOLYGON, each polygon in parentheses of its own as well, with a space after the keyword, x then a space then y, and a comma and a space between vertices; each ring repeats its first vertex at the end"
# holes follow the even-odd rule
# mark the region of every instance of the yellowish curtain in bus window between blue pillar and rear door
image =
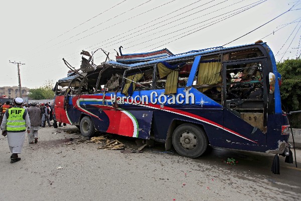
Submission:
MULTIPOLYGON (((221 77, 222 63, 212 61, 201 61, 198 73, 198 85, 203 84, 218 84, 222 83, 221 77)), ((198 88, 199 91, 204 92, 212 87, 198 88)), ((221 90, 221 87, 217 87, 221 90)))

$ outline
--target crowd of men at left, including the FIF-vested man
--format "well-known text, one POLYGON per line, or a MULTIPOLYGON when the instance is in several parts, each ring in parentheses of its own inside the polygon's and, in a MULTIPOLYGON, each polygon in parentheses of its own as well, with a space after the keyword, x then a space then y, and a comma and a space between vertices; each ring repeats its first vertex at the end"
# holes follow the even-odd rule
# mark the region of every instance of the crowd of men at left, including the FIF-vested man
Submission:
POLYGON ((0 125, 2 135, 7 136, 11 150, 11 163, 21 160, 21 153, 25 140, 25 132, 28 133, 29 144, 38 143, 38 130, 45 127, 46 122, 51 127, 53 107, 50 103, 23 103, 21 97, 14 100, 14 104, 7 101, 0 103, 0 125))

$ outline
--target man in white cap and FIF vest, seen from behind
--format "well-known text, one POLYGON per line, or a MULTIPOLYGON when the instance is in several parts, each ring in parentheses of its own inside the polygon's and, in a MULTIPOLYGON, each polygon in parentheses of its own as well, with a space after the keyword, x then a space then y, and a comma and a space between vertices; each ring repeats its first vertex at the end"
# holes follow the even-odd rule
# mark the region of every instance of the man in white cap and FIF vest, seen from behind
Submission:
POLYGON ((17 97, 15 100, 15 107, 6 111, 1 124, 2 134, 7 132, 9 147, 11 150, 11 163, 18 162, 21 158, 23 143, 25 140, 25 131, 30 133, 30 119, 27 110, 22 108, 23 99, 17 97))

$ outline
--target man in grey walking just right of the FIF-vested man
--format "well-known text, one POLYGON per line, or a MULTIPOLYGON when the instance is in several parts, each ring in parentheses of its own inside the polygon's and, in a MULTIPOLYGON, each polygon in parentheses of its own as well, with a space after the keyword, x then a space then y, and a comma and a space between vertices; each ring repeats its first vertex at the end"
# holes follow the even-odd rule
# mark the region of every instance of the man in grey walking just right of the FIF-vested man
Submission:
POLYGON ((29 119, 30 119, 30 133, 28 133, 28 142, 29 144, 34 143, 34 138, 35 138, 35 143, 38 142, 38 130, 40 129, 40 124, 41 124, 41 110, 40 108, 36 107, 36 103, 32 103, 31 107, 27 109, 28 114, 29 114, 29 119))

